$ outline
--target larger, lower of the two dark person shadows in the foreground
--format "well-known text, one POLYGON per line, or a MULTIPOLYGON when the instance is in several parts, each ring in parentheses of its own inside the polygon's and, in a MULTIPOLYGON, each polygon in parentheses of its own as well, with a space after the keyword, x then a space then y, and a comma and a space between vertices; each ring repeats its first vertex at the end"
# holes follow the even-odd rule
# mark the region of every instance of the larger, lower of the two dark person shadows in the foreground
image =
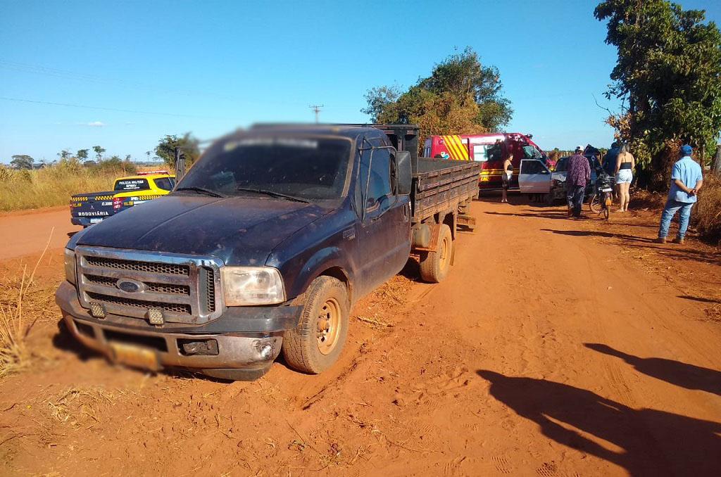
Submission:
POLYGON ((477 370, 490 393, 550 439, 621 466, 631 476, 720 476, 721 424, 633 409, 553 381, 477 370), (586 437, 590 435, 590 437, 586 437), (621 450, 609 449, 601 441, 621 450))

